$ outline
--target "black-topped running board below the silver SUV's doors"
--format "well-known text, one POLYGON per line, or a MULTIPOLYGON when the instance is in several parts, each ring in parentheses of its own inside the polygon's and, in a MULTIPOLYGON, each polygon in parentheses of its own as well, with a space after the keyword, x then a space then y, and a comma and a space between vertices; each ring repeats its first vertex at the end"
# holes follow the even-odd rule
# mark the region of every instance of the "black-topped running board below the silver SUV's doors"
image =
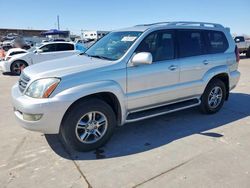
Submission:
POLYGON ((190 99, 182 102, 177 102, 174 104, 169 104, 165 106, 156 107, 153 109, 148 109, 140 112, 134 112, 127 116, 126 123, 131 123, 135 121, 140 121, 143 119, 152 118, 155 116, 169 114, 179 110, 184 110, 187 108, 192 108, 200 105, 201 101, 199 99, 190 99))

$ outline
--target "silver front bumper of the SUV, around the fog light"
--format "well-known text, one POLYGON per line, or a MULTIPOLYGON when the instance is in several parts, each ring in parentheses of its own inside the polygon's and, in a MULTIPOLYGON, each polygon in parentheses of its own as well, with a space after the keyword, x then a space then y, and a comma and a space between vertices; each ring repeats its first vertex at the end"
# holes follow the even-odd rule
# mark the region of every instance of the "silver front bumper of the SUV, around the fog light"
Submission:
POLYGON ((61 101, 57 97, 34 99, 23 95, 16 84, 12 88, 12 104, 16 119, 22 127, 46 134, 57 134, 71 102, 61 101), (23 114, 42 114, 42 118, 38 121, 27 121, 23 114))

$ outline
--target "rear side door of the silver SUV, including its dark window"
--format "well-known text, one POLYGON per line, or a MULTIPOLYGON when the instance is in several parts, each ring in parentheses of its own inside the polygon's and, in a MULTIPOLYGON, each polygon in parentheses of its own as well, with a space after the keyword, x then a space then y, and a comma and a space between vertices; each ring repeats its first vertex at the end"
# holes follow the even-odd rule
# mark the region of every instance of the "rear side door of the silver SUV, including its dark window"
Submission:
POLYGON ((204 32, 179 29, 177 33, 182 90, 179 97, 196 97, 201 92, 202 78, 210 68, 204 32))

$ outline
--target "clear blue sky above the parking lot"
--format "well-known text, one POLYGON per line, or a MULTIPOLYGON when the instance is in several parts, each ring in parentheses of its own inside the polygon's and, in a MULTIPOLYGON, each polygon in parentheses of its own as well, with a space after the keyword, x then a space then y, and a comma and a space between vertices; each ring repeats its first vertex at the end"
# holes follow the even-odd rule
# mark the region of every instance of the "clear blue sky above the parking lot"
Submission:
POLYGON ((161 21, 203 21, 250 35, 250 0, 0 0, 0 28, 114 30, 161 21))

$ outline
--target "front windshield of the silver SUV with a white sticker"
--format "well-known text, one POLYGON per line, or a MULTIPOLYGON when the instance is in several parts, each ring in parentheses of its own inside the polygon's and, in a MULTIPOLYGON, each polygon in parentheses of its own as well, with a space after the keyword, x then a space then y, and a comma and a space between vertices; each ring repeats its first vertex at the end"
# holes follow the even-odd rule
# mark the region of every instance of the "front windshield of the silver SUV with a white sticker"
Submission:
POLYGON ((141 33, 137 31, 111 32, 91 46, 84 54, 101 59, 118 60, 141 33))

